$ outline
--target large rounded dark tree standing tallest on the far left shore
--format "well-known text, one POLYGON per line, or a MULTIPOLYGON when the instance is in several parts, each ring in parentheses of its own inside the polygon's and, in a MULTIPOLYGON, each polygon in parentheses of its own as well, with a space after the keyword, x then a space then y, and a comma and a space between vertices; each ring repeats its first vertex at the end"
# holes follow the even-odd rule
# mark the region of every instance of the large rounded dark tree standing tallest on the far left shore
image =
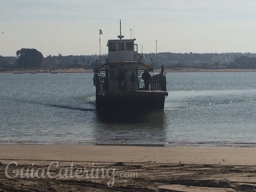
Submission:
POLYGON ((22 48, 16 52, 18 68, 37 68, 41 65, 44 56, 36 49, 22 48))

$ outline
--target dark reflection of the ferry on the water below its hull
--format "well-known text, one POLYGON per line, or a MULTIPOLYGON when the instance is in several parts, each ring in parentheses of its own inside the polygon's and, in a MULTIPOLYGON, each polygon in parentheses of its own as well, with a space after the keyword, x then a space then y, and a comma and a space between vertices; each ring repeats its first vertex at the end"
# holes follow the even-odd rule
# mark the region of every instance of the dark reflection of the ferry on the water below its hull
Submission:
POLYGON ((163 110, 143 114, 97 113, 97 121, 100 123, 94 136, 98 145, 164 146, 167 140, 163 110))

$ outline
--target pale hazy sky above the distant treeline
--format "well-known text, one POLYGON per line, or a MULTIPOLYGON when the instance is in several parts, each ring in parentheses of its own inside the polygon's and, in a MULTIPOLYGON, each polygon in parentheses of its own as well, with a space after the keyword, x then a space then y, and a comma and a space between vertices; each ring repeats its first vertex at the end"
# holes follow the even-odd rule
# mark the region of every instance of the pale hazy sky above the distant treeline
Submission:
POLYGON ((120 20, 143 53, 256 53, 255 0, 0 0, 0 55, 106 54, 120 20))

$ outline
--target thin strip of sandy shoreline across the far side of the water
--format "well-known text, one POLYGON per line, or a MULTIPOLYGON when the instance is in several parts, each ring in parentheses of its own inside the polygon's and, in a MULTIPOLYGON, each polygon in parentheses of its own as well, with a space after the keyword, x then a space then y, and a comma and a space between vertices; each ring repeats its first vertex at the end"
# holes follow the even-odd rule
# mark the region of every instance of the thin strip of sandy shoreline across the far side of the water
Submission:
MULTIPOLYGON (((160 69, 154 70, 155 72, 160 72, 160 69)), ((178 69, 165 69, 166 73, 215 73, 215 72, 256 72, 256 69, 197 69, 197 68, 178 68, 178 69)), ((57 70, 43 70, 43 69, 22 69, 22 70, 12 70, 12 71, 3 71, 0 73, 93 73, 92 69, 83 69, 83 68, 69 68, 69 69, 57 69, 57 70)))

